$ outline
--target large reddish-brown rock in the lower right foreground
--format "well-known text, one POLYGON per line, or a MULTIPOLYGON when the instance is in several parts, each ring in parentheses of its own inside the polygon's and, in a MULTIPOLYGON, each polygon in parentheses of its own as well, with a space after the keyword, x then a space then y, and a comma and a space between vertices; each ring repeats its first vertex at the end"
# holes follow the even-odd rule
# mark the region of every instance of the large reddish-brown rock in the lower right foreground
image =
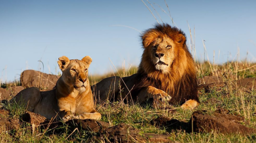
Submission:
POLYGON ((195 111, 192 114, 190 120, 190 126, 192 127, 193 132, 206 132, 210 133, 212 130, 217 131, 222 134, 243 134, 250 135, 256 133, 256 129, 246 127, 241 125, 234 120, 238 118, 232 115, 219 115, 215 112, 217 116, 211 116, 204 114, 200 111, 195 111))

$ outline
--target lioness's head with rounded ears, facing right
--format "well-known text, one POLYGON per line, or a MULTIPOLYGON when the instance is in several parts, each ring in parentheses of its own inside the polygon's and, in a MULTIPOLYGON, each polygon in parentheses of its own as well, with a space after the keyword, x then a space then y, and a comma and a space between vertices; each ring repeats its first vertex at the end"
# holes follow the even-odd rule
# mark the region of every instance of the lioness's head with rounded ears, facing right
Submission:
POLYGON ((68 60, 65 56, 60 57, 58 64, 63 71, 62 77, 65 84, 74 87, 79 92, 84 92, 89 86, 88 68, 91 61, 89 56, 82 60, 68 60))

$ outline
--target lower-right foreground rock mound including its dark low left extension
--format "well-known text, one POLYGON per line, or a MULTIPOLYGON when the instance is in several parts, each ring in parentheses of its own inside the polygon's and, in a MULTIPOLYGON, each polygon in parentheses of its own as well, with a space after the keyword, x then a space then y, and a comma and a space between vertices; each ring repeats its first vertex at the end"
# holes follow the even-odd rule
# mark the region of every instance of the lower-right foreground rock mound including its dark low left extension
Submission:
POLYGON ((165 127, 167 131, 184 130, 186 133, 199 132, 211 133, 216 131, 221 134, 243 134, 251 135, 256 133, 256 129, 246 127, 245 118, 237 113, 230 113, 227 109, 217 109, 213 115, 208 115, 206 111, 195 111, 190 122, 183 122, 177 119, 160 116, 152 120, 152 125, 165 127))

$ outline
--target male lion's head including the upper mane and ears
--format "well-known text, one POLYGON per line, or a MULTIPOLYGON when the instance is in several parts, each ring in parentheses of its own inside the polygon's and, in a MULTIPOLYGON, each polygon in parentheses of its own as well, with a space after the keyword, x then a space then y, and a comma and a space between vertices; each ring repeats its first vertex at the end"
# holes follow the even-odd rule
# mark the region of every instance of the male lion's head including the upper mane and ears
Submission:
POLYGON ((185 54, 185 34, 169 25, 157 25, 145 31, 141 38, 144 52, 140 66, 146 72, 171 72, 178 55, 185 54))

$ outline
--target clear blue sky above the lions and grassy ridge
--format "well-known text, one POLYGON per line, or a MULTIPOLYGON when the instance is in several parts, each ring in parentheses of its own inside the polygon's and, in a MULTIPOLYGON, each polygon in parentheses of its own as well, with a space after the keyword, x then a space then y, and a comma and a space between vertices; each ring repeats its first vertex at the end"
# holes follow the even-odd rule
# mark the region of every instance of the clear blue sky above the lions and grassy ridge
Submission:
MULTIPOLYGON (((173 25, 160 8, 169 13, 164 0, 149 0, 161 19, 143 1, 160 23, 162 19, 173 25)), ((232 60, 238 48, 240 60, 249 52, 248 59, 256 61, 256 0, 166 2, 188 44, 188 24, 192 32, 195 29, 199 60, 203 60, 205 40, 211 61, 213 51, 215 62, 232 60)), ((127 67, 137 66, 143 51, 138 31, 156 23, 141 0, 0 0, 0 81, 19 79, 27 69, 56 74, 63 55, 69 59, 91 56, 91 74, 115 71, 113 65, 122 67, 124 61, 127 67)))

